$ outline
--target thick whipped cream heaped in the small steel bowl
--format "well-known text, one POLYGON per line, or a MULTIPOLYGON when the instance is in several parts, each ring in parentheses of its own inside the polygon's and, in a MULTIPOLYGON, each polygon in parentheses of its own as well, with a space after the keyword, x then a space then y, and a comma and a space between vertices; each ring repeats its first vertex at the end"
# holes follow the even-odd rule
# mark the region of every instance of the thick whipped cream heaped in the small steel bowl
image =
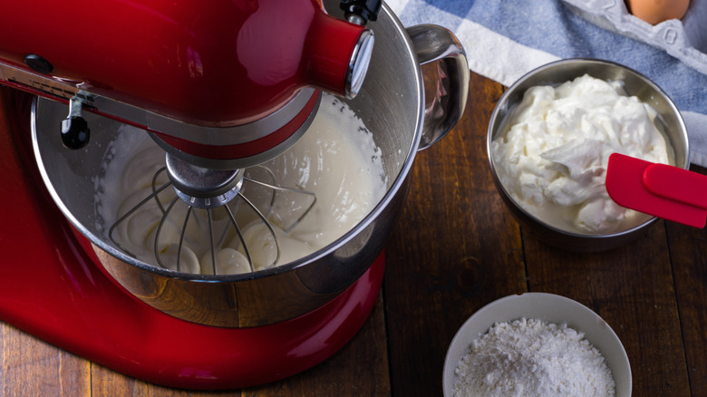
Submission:
POLYGON ((606 167, 614 152, 670 163, 672 149, 656 118, 621 82, 584 75, 531 87, 491 142, 494 167, 518 205, 555 228, 581 234, 633 228, 651 217, 609 198, 606 167))

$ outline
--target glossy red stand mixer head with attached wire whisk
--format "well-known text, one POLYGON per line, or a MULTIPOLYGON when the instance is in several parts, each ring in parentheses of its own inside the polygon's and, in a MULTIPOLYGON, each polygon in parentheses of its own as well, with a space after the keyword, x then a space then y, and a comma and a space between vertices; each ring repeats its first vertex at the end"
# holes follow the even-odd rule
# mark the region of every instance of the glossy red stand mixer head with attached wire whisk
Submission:
MULTIPOLYGON (((352 22, 327 15, 320 0, 243 0, 208 7, 194 2, 151 0, 136 5, 110 0, 102 2, 99 13, 83 0, 57 5, 60 9, 34 7, 32 2, 9 6, 5 16, 34 15, 52 21, 56 15, 72 15, 81 21, 59 28, 0 17, 7 19, 0 21, 0 37, 17 38, 0 45, 0 82, 68 101, 69 115, 61 123, 67 148, 80 149, 90 139, 91 125, 83 111, 148 131, 166 152, 166 168, 158 174, 166 172, 169 181, 160 189, 172 186, 189 208, 182 230, 192 208, 207 211, 210 222, 211 212, 222 207, 240 237, 228 208, 231 199, 239 199, 269 229, 276 245, 275 263, 279 245, 269 210, 261 211, 242 195, 244 181, 271 189, 270 207, 278 191, 311 197, 300 219, 316 198, 309 191, 279 186, 271 171, 265 172, 266 180, 245 178, 245 169, 291 147, 313 121, 323 91, 345 98, 356 95, 373 51, 373 32, 363 24, 376 18, 381 2, 344 0, 341 8, 352 22), (101 42, 87 41, 94 37, 101 42)), ((163 206, 156 192, 123 218, 150 199, 164 214, 160 230, 169 218, 166 208, 176 202, 163 206)), ((288 231, 298 220, 283 229, 288 231)), ((213 254, 217 237, 210 224, 208 232, 217 274, 213 254)), ((163 266, 158 237, 160 233, 155 256, 163 266)), ((243 237, 240 240, 252 271, 251 255, 243 237)))

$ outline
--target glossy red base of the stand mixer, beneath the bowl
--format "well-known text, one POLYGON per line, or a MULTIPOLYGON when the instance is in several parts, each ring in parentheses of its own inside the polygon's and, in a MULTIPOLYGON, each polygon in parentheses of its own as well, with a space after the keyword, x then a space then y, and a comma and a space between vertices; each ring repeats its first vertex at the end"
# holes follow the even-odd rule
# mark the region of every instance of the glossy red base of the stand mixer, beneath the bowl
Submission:
POLYGON ((228 329, 164 315, 99 270, 48 197, 31 151, 6 130, 0 128, 0 206, 12 209, 0 221, 0 320, 50 344, 147 382, 233 389, 321 363, 375 304, 383 254, 332 302, 284 323, 228 329))

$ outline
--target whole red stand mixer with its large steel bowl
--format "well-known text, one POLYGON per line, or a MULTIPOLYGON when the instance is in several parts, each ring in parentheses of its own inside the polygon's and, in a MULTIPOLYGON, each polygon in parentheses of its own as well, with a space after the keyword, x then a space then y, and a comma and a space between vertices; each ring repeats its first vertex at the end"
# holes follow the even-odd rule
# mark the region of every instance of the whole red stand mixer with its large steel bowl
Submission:
POLYGON ((315 0, 111 0, 98 14, 84 0, 6 5, 0 161, 3 200, 19 208, 0 228, 0 319, 183 388, 271 382, 340 349, 380 290, 414 153, 459 121, 469 70, 446 29, 405 30, 379 2, 326 5, 342 15, 315 0), (426 105, 420 64, 432 61, 440 77, 426 105), (177 164, 169 180, 182 199, 210 209, 237 196, 241 169, 305 133, 323 91, 382 131, 390 179, 371 214, 331 245, 252 274, 187 275, 140 262, 95 228, 92 170, 121 125, 147 131, 177 164))

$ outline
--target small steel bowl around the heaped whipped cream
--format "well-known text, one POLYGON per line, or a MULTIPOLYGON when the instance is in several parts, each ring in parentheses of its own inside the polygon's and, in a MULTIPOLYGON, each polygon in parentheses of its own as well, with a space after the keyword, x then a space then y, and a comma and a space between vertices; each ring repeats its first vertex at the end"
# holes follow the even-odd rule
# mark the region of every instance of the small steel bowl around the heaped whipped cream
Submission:
MULTIPOLYGON (((662 122, 662 130, 667 140, 673 147, 674 166, 687 169, 689 160, 689 147, 687 130, 680 112, 677 110, 671 99, 654 82, 643 74, 635 72, 621 64, 607 62, 598 59, 566 59, 554 63, 547 63, 535 69, 518 82, 511 85, 503 96, 491 115, 489 131, 487 135, 487 150, 491 174, 496 188, 499 190, 501 198, 505 201, 508 209, 521 225, 530 230, 538 239, 555 247, 567 250, 592 252, 602 251, 619 247, 634 237, 637 237, 642 229, 654 223, 657 218, 650 218, 641 225, 615 233, 604 235, 590 235, 573 233, 547 224, 547 222, 521 208, 518 203, 508 194, 498 175, 496 161, 491 150, 491 141, 508 127, 507 122, 513 109, 523 100, 524 93, 530 87, 538 85, 557 86, 563 82, 574 80, 584 74, 605 81, 621 81, 624 83, 625 92, 636 96, 642 102, 653 106, 658 112, 658 118, 662 122)), ((659 128, 660 129, 660 128, 659 128)))

